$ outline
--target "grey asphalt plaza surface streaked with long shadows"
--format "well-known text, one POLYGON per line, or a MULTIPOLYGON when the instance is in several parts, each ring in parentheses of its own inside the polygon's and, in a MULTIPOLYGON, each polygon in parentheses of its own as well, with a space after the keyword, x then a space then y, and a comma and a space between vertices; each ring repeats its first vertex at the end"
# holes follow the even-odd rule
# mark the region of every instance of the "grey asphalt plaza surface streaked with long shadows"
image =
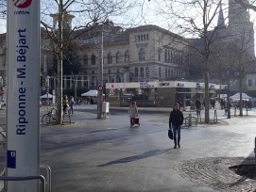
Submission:
POLYGON ((167 136, 168 112, 140 112, 141 126, 130 128, 126 110, 98 120, 94 105, 77 106, 73 123, 41 127, 41 164, 52 168, 53 192, 218 191, 181 177, 176 166, 200 158, 253 157, 251 114, 182 128, 175 150, 167 136))

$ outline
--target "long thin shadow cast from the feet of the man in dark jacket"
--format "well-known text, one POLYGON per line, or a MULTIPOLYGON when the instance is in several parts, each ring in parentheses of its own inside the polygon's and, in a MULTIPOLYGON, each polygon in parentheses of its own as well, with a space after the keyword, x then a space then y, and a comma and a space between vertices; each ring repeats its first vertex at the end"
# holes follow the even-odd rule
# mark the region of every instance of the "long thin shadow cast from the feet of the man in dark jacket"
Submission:
POLYGON ((152 151, 144 152, 142 154, 128 156, 128 157, 125 157, 125 158, 122 158, 122 159, 117 159, 117 160, 111 161, 111 162, 106 163, 106 164, 98 165, 97 167, 105 167, 105 166, 111 166, 113 164, 123 164, 123 163, 132 162, 132 161, 137 161, 137 160, 145 159, 147 157, 155 156, 155 155, 158 155, 158 154, 161 154, 161 153, 164 153, 164 152, 169 152, 171 150, 172 149, 152 150, 152 151))

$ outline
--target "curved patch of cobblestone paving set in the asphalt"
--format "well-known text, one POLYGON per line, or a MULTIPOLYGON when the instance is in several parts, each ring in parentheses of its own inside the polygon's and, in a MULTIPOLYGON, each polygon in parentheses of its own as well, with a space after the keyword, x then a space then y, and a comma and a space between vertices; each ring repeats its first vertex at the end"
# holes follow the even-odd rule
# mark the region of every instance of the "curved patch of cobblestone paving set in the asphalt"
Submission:
POLYGON ((256 191, 256 181, 234 173, 230 167, 253 164, 254 159, 242 157, 201 158, 175 164, 179 175, 196 184, 206 184, 219 191, 256 191))

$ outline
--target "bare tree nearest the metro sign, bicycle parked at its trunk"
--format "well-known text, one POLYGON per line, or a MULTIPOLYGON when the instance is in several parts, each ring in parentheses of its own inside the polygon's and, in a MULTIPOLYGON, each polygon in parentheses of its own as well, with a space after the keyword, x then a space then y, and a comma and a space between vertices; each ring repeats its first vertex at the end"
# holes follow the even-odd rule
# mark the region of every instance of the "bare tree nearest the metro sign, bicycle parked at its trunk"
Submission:
MULTIPOLYGON (((44 2, 44 1, 43 1, 44 2)), ((108 18, 125 15, 133 4, 127 0, 54 0, 43 3, 42 24, 52 40, 52 51, 57 56, 57 123, 62 122, 62 60, 63 50, 69 43, 83 33, 94 30, 98 24, 104 23, 108 18), (75 16, 76 21, 72 21, 75 16), (51 24, 52 18, 54 24, 51 24), (58 27, 57 25, 58 24, 58 27), (72 24, 75 24, 72 27, 72 24), (63 31, 69 27, 69 33, 63 38, 63 31), (84 29, 77 33, 77 29, 84 29)))

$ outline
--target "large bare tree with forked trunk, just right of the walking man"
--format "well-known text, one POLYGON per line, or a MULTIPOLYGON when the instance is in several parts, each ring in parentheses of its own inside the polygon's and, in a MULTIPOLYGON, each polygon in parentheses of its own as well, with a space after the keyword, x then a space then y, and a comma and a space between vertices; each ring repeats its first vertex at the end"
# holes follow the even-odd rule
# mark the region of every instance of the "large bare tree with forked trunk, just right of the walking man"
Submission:
MULTIPOLYGON (((162 14, 171 20, 171 28, 179 29, 180 34, 199 37, 200 43, 190 45, 200 56, 204 67, 205 83, 205 122, 210 123, 209 115, 209 59, 211 46, 216 40, 214 21, 218 17, 222 0, 165 0, 162 14), (193 11, 192 11, 193 10, 193 11)), ((223 21, 224 22, 224 21, 223 21)))

